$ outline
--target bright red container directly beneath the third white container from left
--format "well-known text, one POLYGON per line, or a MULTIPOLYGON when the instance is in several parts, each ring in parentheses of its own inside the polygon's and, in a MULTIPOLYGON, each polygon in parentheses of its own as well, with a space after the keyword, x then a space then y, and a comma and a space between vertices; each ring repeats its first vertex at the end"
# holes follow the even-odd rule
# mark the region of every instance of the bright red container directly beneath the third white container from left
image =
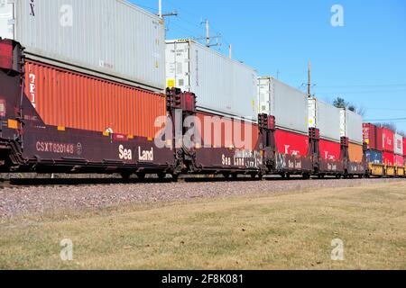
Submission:
POLYGON ((281 154, 306 157, 309 150, 309 135, 286 130, 275 130, 277 151, 281 154))

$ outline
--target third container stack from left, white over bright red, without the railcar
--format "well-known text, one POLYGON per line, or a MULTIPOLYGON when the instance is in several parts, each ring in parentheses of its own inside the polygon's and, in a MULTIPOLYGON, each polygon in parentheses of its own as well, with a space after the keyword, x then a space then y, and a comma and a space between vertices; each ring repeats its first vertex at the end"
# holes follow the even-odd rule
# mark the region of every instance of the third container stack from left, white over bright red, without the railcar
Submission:
POLYGON ((271 76, 258 78, 260 112, 275 117, 280 154, 306 157, 309 150, 308 96, 271 76))

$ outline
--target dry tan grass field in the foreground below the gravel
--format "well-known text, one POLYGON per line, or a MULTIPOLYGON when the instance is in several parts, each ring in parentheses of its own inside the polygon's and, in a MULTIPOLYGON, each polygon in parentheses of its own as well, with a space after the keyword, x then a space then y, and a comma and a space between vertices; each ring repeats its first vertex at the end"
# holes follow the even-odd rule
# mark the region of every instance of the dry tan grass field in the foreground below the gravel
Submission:
POLYGON ((405 269, 406 182, 7 220, 0 268, 405 269))

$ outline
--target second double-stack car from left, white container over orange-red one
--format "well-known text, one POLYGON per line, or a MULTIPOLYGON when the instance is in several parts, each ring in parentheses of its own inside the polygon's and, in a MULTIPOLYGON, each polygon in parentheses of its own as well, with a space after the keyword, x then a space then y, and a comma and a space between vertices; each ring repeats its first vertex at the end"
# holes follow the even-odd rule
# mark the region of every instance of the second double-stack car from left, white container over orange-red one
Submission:
POLYGON ((168 87, 197 96, 192 116, 201 143, 189 171, 256 175, 262 159, 255 69, 195 40, 167 40, 166 63, 168 87))

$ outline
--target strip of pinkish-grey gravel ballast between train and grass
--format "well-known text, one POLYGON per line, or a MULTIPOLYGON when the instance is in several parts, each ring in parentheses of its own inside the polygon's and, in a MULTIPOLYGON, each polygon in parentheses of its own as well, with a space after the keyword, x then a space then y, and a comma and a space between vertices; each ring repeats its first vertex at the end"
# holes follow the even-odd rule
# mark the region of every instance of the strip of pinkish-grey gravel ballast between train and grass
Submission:
POLYGON ((238 181, 160 184, 32 186, 0 190, 0 219, 47 211, 89 211, 131 203, 180 202, 197 198, 283 193, 309 188, 355 187, 397 179, 238 181))

